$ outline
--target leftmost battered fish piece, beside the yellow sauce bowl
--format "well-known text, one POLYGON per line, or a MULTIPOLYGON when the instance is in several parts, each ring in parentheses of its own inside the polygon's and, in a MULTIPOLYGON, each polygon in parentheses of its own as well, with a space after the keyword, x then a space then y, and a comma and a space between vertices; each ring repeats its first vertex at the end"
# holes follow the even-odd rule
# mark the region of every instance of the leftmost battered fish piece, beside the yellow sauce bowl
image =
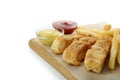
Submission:
POLYGON ((83 35, 74 34, 60 36, 54 40, 51 49, 56 54, 62 54, 74 39, 79 39, 81 37, 83 37, 83 35))

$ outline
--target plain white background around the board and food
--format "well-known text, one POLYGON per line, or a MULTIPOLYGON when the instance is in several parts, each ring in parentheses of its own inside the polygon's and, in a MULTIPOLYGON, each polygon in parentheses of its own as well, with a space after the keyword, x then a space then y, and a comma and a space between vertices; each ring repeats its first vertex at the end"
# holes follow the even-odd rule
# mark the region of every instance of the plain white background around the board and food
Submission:
POLYGON ((119 0, 0 0, 0 80, 66 80, 33 52, 29 39, 56 20, 120 26, 119 0))

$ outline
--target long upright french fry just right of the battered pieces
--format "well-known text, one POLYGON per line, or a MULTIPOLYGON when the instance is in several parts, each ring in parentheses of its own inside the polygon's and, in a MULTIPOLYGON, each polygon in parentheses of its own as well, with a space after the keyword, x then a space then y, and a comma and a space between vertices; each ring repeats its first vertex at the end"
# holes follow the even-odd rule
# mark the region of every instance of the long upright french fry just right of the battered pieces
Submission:
POLYGON ((113 70, 115 68, 115 61, 117 57, 117 51, 118 51, 118 35, 119 32, 116 31, 113 34, 113 39, 112 39, 112 46, 111 46, 111 51, 110 51, 110 59, 108 63, 108 67, 110 70, 113 70))

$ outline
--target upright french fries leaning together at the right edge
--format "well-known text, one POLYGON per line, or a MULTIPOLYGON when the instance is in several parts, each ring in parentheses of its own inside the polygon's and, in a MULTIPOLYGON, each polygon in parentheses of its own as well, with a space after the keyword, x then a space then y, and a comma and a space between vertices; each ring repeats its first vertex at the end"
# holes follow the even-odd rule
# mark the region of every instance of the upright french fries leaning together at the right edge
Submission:
POLYGON ((112 40, 112 47, 110 51, 110 59, 109 59, 109 69, 113 70, 115 68, 115 61, 117 58, 118 64, 120 65, 120 32, 117 30, 113 34, 113 40, 112 40))

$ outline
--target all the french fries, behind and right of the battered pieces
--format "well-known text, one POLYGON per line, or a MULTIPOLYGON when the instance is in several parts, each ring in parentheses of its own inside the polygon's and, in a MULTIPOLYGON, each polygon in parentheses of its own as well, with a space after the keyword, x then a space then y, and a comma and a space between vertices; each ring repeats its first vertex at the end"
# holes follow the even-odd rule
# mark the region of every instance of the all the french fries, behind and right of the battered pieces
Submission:
POLYGON ((110 35, 112 37, 112 45, 110 50, 110 57, 108 68, 114 70, 116 63, 120 66, 120 29, 112 28, 111 24, 105 24, 102 29, 90 28, 89 25, 83 25, 76 29, 78 34, 101 37, 110 35))

